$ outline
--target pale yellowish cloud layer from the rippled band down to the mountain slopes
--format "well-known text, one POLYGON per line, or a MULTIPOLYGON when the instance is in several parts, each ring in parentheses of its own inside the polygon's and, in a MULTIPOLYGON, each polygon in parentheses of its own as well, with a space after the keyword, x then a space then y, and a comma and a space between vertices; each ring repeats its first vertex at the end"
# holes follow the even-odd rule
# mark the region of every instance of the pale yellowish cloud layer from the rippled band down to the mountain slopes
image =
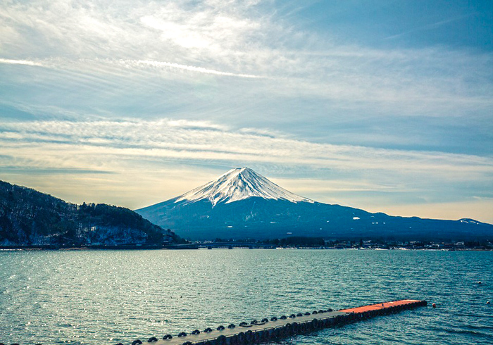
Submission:
POLYGON ((72 201, 114 203, 111 196, 118 196, 135 208, 245 165, 311 199, 372 211, 397 210, 389 207, 389 199, 397 206, 418 199, 443 203, 493 197, 489 157, 316 144, 282 132, 256 133, 204 121, 4 122, 0 146, 0 179, 32 180, 31 187, 60 191, 58 196, 79 195, 72 201))

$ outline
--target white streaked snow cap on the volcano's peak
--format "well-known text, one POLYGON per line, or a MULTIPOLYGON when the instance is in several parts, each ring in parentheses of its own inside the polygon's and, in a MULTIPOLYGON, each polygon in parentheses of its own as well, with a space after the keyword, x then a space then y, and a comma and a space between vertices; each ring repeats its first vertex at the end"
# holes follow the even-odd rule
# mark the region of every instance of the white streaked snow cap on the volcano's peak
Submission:
POLYGON ((288 192, 286 189, 270 182, 262 175, 257 174, 249 168, 235 168, 218 177, 217 180, 208 182, 201 187, 178 196, 175 202, 199 201, 208 199, 213 206, 217 203, 231 203, 252 196, 263 199, 287 200, 294 203, 300 201, 311 202, 297 194, 288 192))

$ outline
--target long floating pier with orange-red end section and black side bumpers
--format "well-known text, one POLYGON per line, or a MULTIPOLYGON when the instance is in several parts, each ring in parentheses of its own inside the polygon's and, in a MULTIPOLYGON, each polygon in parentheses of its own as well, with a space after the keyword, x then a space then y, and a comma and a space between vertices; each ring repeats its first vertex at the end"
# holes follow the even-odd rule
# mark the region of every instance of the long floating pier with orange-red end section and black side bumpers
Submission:
MULTIPOLYGON (((426 306, 426 301, 404 299, 375 303, 368 306, 342 309, 339 311, 320 310, 291 315, 282 315, 279 318, 264 318, 260 321, 242 322, 239 325, 230 324, 206 328, 204 331, 194 330, 187 334, 181 332, 175 336, 166 334, 161 339, 151 337, 144 342, 155 345, 244 345, 260 344, 263 342, 282 339, 297 334, 314 332, 326 327, 344 325, 351 322, 366 320, 378 315, 388 315, 399 311, 426 306)), ((132 345, 142 344, 137 339, 132 345)), ((123 344, 117 344, 123 345, 123 344)))

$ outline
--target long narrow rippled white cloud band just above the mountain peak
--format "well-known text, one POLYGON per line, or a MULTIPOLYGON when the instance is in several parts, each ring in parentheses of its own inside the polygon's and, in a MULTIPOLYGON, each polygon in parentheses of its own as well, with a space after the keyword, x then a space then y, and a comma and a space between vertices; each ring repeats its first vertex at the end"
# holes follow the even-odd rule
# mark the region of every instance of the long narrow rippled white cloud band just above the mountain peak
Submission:
MULTIPOLYGON (((1 123, 0 129, 6 153, 19 156, 20 151, 27 151, 30 153, 22 156, 33 159, 46 156, 47 161, 54 160, 49 168, 67 164, 82 164, 82 168, 89 162, 75 157, 94 154, 103 160, 104 156, 113 156, 128 160, 270 162, 337 170, 387 170, 454 181, 469 180, 471 176, 487 179, 493 173, 493 161, 487 157, 316 144, 275 132, 266 135, 204 121, 46 120, 1 123), (66 158, 70 155, 74 158, 66 158)), ((106 169, 112 170, 110 166, 106 169)))

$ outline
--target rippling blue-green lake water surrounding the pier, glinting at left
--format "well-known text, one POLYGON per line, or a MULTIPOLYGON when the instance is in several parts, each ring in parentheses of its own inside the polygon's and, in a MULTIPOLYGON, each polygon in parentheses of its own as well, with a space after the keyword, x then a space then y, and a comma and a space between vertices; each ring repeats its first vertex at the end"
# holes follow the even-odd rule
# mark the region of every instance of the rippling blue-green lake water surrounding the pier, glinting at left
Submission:
POLYGON ((426 299, 428 307, 273 344, 493 344, 492 268, 493 252, 471 251, 0 251, 0 342, 130 344, 426 299))

